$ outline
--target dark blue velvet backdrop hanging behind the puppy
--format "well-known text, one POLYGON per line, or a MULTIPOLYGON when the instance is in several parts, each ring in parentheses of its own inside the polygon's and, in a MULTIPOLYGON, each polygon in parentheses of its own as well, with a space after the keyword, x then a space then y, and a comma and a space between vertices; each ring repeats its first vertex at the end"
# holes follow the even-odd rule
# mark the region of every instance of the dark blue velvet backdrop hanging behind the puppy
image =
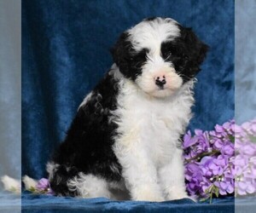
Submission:
MULTIPOLYGON (((46 176, 49 155, 63 140, 79 103, 113 63, 110 47, 125 29, 152 16, 171 17, 192 27, 211 48, 197 76, 195 116, 189 130, 212 130, 215 124, 234 117, 233 1, 24 0, 22 175, 46 176)), ((24 199, 27 209, 29 200, 27 196, 24 199)), ((49 200, 42 198, 38 202, 49 200)), ((53 200, 61 206, 66 199, 53 200)), ((103 202, 95 199, 90 205, 93 201, 103 202)), ((76 202, 79 206, 86 201, 73 200, 73 209, 76 202)), ((176 206, 182 203, 172 208, 180 208, 176 206)), ((123 204, 128 210, 130 204, 136 203, 113 204, 119 208, 123 204)), ((55 204, 55 209, 59 205, 55 204)), ((172 206, 172 202, 163 205, 172 206)), ((102 205, 109 206, 111 202, 102 205)), ((143 204, 139 206, 138 210, 143 210, 143 204)), ((152 208, 158 208, 157 204, 152 208)))

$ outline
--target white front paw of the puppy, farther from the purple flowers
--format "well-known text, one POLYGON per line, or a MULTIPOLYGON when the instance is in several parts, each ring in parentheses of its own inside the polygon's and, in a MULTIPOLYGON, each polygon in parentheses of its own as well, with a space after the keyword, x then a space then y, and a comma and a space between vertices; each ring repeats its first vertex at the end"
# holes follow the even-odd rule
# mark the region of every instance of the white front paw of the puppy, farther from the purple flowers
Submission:
POLYGON ((149 187, 137 188, 137 190, 132 193, 132 199, 155 202, 161 202, 165 200, 160 191, 149 187))

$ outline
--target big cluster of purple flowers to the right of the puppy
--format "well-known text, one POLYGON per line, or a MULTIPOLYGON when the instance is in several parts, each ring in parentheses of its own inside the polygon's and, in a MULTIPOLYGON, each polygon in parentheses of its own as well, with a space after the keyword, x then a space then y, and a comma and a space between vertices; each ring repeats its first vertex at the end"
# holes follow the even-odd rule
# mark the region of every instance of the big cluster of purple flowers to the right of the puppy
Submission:
POLYGON ((256 119, 241 125, 232 119, 212 131, 195 130, 194 136, 189 131, 183 143, 189 194, 256 193, 255 142, 256 119))

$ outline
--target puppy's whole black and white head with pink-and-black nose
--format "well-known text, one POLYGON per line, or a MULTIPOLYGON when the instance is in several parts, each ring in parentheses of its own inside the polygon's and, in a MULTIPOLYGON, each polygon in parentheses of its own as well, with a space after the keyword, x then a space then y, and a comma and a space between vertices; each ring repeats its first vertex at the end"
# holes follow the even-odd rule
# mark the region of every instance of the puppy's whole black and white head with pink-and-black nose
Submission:
POLYGON ((125 78, 148 95, 165 97, 195 77, 207 49, 190 28, 151 18, 123 32, 112 54, 125 78))

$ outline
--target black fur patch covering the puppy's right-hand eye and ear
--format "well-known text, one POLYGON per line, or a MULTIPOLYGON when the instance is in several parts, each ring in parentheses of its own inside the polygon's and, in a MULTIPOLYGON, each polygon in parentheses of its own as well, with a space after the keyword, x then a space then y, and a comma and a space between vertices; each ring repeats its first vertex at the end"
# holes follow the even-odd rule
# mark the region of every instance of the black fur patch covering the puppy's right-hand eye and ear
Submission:
POLYGON ((207 55, 208 46, 202 43, 190 28, 179 26, 181 36, 161 44, 161 54, 171 61, 183 83, 194 78, 201 70, 202 61, 207 55))

